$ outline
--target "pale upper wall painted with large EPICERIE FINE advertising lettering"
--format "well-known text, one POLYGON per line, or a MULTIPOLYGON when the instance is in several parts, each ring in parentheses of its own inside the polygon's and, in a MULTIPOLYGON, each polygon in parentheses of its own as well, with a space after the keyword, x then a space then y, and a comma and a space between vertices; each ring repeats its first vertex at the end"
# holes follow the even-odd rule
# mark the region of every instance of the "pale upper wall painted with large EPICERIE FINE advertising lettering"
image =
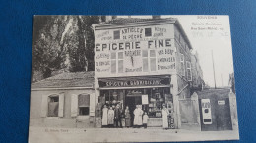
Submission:
POLYGON ((171 35, 166 25, 96 30, 97 76, 175 70, 171 35))

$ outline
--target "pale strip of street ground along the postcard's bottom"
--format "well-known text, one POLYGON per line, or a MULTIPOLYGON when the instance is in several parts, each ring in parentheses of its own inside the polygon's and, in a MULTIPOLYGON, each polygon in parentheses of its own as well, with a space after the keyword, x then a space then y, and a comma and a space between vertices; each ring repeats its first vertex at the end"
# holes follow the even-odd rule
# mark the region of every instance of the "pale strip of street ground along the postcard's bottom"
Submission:
POLYGON ((237 130, 231 131, 190 131, 163 130, 161 128, 46 128, 31 127, 30 143, 45 142, 162 142, 162 141, 203 141, 237 140, 237 130))

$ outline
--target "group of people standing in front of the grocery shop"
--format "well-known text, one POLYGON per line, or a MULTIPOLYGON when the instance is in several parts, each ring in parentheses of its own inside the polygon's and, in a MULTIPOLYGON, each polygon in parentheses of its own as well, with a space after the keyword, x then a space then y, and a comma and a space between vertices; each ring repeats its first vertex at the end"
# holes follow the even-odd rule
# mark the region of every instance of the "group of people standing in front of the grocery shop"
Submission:
MULTIPOLYGON (((162 127, 163 129, 167 129, 169 111, 164 104, 162 105, 161 113, 162 127)), ((148 119, 149 117, 147 112, 144 112, 139 105, 136 105, 136 109, 133 111, 133 127, 140 128, 143 126, 144 128, 147 128, 148 119)), ((110 106, 109 108, 104 105, 102 109, 102 127, 131 127, 131 121, 132 117, 128 106, 126 106, 123 112, 119 104, 117 104, 116 106, 110 106), (122 121, 122 119, 125 120, 122 121)))

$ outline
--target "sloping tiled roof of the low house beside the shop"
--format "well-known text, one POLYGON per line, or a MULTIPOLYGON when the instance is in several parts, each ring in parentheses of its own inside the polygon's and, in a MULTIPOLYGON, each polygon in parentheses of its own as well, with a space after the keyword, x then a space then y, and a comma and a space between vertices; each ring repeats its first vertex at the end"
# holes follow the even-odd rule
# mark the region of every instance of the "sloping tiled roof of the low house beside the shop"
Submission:
POLYGON ((64 72, 32 83, 31 88, 93 87, 95 71, 64 72))

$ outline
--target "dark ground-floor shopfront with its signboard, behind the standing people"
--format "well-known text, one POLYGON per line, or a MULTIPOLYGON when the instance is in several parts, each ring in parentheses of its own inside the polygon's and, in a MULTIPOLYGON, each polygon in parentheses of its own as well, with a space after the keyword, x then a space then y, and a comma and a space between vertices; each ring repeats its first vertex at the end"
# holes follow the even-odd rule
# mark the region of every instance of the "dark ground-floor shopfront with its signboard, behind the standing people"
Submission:
MULTIPOLYGON (((121 109, 125 109, 128 106, 132 125, 133 111, 136 105, 141 106, 142 110, 148 113, 149 121, 152 120, 151 118, 161 118, 163 104, 170 111, 173 108, 169 75, 99 78, 98 83, 100 92, 98 97, 99 104, 107 105, 107 107, 119 104, 121 109)), ((149 122, 149 124, 152 124, 152 122, 149 122)))

